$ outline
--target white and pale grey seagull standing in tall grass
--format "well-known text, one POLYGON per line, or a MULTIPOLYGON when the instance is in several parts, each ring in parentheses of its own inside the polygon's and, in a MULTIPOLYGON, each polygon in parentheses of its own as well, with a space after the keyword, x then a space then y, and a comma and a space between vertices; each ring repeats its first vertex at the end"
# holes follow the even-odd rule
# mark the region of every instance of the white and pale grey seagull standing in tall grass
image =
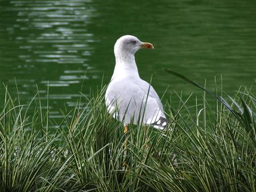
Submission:
POLYGON ((107 110, 123 122, 125 133, 129 124, 146 124, 163 130, 168 120, 154 88, 139 77, 134 54, 142 48, 154 49, 137 37, 125 35, 114 45, 115 68, 105 94, 107 110))

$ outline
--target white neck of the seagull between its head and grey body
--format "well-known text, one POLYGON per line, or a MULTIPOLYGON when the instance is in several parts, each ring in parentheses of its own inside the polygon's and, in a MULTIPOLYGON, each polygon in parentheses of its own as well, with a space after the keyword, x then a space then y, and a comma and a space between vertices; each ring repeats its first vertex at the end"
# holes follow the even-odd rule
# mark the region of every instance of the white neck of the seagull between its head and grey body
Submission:
POLYGON ((113 77, 115 76, 139 77, 138 68, 133 54, 126 53, 125 55, 118 54, 115 56, 115 69, 113 77))

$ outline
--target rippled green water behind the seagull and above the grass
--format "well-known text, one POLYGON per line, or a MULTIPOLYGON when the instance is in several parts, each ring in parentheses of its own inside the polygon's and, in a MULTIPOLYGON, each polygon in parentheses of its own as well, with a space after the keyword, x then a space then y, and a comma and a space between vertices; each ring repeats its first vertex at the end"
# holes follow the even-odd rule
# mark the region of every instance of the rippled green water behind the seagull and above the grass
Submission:
MULTIPOLYGON (((122 35, 154 44, 136 54, 141 77, 159 95, 201 91, 163 72, 172 69, 214 90, 222 75, 233 94, 255 84, 256 1, 5 1, 0 2, 0 77, 28 103, 39 89, 51 116, 72 107, 82 92, 106 84, 114 69, 113 46, 122 35), (85 74, 86 72, 86 74, 85 74), (38 85, 38 88, 36 88, 38 85)), ((1 106, 5 90, 0 86, 1 106)), ((255 93, 255 86, 252 91, 255 93)), ((175 97, 172 98, 175 103, 175 97)), ((45 107, 45 103, 43 104, 45 107)))

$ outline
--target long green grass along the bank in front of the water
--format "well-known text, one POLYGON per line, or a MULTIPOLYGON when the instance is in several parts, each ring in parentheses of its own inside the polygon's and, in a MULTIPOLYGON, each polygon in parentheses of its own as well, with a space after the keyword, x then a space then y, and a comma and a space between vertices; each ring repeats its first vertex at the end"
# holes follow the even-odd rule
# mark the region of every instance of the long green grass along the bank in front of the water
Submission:
POLYGON ((202 93, 194 106, 179 95, 172 97, 178 108, 166 103, 173 131, 131 126, 124 135, 106 112, 103 88, 81 95, 88 104, 63 112, 52 134, 39 94, 22 105, 6 89, 0 191, 255 191, 255 95, 244 89, 229 97, 217 86, 202 93))

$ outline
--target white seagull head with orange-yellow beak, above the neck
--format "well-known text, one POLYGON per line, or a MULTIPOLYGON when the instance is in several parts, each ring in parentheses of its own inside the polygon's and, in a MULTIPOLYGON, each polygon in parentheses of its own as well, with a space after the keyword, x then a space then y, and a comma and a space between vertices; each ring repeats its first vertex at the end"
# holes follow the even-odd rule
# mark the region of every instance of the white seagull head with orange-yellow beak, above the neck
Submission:
POLYGON ((135 36, 122 36, 114 45, 115 57, 134 55, 141 48, 154 49, 154 46, 151 43, 144 43, 140 41, 135 36))

